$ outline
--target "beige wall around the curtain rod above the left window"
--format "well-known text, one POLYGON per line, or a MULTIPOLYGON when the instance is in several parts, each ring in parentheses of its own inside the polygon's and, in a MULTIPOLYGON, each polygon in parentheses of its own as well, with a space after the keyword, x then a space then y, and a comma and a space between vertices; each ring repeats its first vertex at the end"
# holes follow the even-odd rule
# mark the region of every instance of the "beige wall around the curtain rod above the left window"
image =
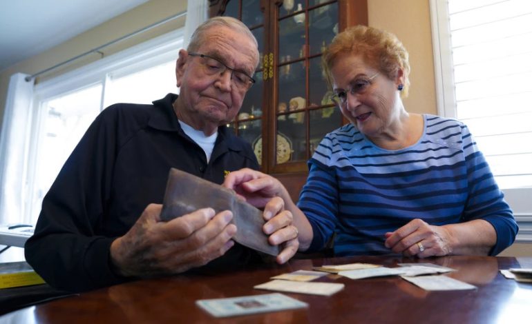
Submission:
MULTIPOLYGON (((51 48, 46 52, 35 55, 30 59, 21 61, 15 65, 6 68, 0 72, 0 121, 3 119, 3 112, 6 106, 6 96, 8 92, 9 78, 12 74, 16 72, 23 72, 26 74, 35 74, 41 70, 50 68, 53 65, 76 57, 79 54, 88 52, 93 48, 97 48, 104 43, 113 41, 120 37, 123 37, 127 34, 131 34, 137 30, 140 30, 146 26, 150 26, 153 23, 162 21, 168 17, 173 16, 179 12, 187 10, 187 0, 150 0, 128 12, 124 12, 118 17, 110 19, 101 25, 88 30, 82 34, 79 34, 77 37, 70 39, 60 45, 57 45, 55 48, 51 48)), ((126 39, 117 43, 116 45, 108 46, 101 50, 104 55, 113 54, 129 48, 132 45, 137 43, 142 43, 147 39, 160 36, 181 28, 184 26, 184 17, 175 19, 165 23, 163 26, 158 26, 144 32, 131 39, 126 39)), ((73 68, 78 68, 86 63, 96 61, 101 56, 100 54, 93 53, 89 54, 86 57, 74 61, 66 65, 64 68, 59 68, 57 70, 50 71, 50 73, 44 74, 42 77, 37 78, 37 82, 49 79, 54 77, 57 74, 66 72, 67 70, 72 70, 73 68)), ((177 58, 177 53, 176 53, 177 58)), ((0 122, 1 127, 1 122, 0 122)))

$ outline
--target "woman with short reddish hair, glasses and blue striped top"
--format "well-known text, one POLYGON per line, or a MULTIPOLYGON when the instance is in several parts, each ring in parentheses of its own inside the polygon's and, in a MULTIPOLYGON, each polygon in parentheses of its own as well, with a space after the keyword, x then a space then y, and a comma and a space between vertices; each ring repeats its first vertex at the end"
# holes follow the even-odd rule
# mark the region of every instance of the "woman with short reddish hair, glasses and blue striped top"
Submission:
POLYGON ((517 224, 464 123, 408 112, 408 52, 390 34, 356 26, 323 54, 334 101, 350 121, 309 161, 298 207, 281 183, 251 170, 225 184, 251 202, 278 195, 292 211, 300 251, 337 256, 495 255, 517 224))

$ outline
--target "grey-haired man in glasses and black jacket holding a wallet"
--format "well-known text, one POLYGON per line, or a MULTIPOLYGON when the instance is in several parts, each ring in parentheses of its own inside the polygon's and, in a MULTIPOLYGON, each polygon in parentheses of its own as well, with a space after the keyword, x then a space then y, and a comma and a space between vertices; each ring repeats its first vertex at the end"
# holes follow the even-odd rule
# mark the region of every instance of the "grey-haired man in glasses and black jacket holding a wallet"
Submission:
MULTIPOLYGON (((102 112, 44 198, 28 263, 52 286, 92 290, 189 270, 227 270, 260 261, 231 240, 230 211, 205 208, 160 220, 170 168, 222 183, 228 172, 257 169, 251 146, 221 126, 234 119, 254 83, 258 46, 243 23, 209 19, 180 50, 180 95, 153 105, 119 103, 102 112)), ((149 81, 148 81, 149 82, 149 81)), ((265 206, 264 232, 284 263, 298 249, 283 200, 265 206)))

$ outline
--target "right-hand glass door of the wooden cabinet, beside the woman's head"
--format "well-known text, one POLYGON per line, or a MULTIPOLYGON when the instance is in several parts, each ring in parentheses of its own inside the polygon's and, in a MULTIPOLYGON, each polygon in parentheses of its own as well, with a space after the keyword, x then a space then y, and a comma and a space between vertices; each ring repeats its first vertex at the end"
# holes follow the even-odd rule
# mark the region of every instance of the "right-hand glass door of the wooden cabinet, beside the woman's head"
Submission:
MULTIPOLYGON (((285 0, 278 6, 276 155, 304 168, 323 136, 342 125, 321 72, 321 54, 339 31, 336 1, 285 0)), ((297 166, 296 166, 297 165, 297 166)))

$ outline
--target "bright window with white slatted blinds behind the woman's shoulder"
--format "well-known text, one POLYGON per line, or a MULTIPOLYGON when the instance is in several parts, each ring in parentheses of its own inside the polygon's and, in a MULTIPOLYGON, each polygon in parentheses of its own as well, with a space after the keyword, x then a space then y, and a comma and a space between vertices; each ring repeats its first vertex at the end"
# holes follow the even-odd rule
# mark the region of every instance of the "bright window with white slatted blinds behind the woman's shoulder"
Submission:
POLYGON ((464 121, 532 242, 532 1, 431 0, 438 112, 464 121))

